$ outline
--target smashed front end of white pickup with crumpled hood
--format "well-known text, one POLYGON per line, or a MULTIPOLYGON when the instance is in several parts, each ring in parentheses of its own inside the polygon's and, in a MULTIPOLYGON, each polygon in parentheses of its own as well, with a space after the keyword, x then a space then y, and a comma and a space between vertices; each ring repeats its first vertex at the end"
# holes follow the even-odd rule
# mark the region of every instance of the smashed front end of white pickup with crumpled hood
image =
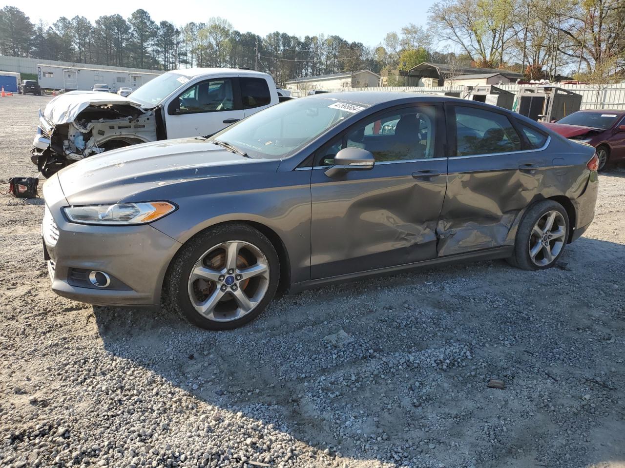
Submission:
POLYGON ((158 108, 144 109, 114 94, 59 95, 39 111, 31 160, 49 177, 69 163, 106 150, 154 141, 157 114, 158 108))

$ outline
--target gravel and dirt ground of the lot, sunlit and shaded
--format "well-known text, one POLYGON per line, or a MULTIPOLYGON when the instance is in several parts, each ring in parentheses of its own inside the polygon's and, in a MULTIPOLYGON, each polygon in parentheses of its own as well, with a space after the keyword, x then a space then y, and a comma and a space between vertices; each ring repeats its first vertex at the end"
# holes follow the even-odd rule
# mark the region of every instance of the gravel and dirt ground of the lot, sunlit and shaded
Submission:
MULTIPOLYGON (((47 99, 0 100, 4 190, 47 99)), ((0 466, 625 467, 625 170, 600 182, 559 268, 320 288, 223 333, 54 295, 42 200, 0 197, 0 466)))

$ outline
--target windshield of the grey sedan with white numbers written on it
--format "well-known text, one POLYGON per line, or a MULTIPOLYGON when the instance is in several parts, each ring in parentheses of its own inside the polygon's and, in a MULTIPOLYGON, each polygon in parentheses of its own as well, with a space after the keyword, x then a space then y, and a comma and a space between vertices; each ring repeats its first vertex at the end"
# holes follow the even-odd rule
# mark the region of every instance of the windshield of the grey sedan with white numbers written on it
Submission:
POLYGON ((251 157, 283 158, 364 109, 362 104, 331 98, 293 99, 257 112, 212 139, 227 142, 251 157))

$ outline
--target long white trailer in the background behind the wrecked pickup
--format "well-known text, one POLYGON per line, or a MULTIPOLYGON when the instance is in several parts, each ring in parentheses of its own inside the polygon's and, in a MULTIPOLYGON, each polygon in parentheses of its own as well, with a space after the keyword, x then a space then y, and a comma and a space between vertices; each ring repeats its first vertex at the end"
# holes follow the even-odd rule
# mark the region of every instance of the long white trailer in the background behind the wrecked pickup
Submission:
POLYGON ((129 69, 99 69, 80 66, 37 65, 37 79, 43 89, 89 90, 94 84, 108 84, 112 92, 127 87, 133 90, 163 72, 139 72, 129 69))

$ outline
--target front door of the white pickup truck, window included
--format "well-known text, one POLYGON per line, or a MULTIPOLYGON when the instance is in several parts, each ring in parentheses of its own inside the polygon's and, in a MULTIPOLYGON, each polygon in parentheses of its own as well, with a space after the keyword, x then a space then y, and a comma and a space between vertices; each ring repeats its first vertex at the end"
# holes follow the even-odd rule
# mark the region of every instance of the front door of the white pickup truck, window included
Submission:
POLYGON ((212 135, 245 117, 236 77, 190 85, 167 106, 168 138, 212 135))

